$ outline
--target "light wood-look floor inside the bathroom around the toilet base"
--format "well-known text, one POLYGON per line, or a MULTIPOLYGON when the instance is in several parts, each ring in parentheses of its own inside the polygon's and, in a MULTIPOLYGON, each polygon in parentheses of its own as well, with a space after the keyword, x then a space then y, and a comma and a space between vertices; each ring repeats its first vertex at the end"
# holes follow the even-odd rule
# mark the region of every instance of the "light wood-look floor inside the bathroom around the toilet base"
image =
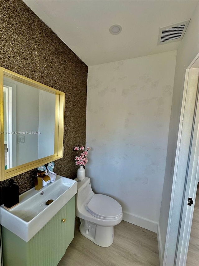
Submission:
POLYGON ((134 266, 160 265, 157 235, 122 221, 114 226, 114 242, 102 248, 79 232, 76 218, 75 237, 58 266, 134 266))

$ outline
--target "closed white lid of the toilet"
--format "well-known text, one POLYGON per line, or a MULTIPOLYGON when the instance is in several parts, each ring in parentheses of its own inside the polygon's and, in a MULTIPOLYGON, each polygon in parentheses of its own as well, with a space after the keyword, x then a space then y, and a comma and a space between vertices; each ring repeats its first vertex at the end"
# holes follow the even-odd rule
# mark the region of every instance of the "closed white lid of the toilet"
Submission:
POLYGON ((90 214, 102 218, 117 218, 122 213, 122 206, 113 198, 95 194, 87 205, 90 214))

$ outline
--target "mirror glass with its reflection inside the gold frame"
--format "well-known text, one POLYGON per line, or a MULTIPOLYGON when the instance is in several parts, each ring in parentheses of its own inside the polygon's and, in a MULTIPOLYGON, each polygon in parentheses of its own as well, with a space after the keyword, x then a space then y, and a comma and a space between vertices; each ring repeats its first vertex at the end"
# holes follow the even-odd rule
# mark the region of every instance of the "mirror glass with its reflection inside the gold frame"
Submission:
POLYGON ((3 78, 5 169, 54 154, 55 94, 3 78))

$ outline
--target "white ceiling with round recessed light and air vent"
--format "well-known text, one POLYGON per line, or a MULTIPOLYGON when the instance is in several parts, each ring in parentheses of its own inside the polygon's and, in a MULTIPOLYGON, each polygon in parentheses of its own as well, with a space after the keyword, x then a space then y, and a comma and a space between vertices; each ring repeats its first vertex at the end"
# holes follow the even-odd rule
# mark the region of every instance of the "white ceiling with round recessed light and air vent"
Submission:
POLYGON ((159 28, 190 19, 198 1, 23 0, 88 66, 176 50, 159 28), (122 32, 112 35, 113 24, 122 32))

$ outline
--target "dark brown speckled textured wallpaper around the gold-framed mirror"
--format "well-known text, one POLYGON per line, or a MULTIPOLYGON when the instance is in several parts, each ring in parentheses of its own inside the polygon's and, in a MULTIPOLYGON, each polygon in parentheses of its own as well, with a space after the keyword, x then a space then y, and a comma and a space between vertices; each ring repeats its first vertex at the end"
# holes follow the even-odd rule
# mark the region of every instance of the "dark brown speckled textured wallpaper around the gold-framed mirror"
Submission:
MULTIPOLYGON (((0 19, 0 65, 66 94, 64 157, 55 161, 54 172, 74 179, 78 167, 72 148, 86 142, 88 67, 23 1, 1 0, 0 19)), ((34 186, 35 170, 12 178, 20 194, 34 186)), ((0 182, 1 192, 7 184, 0 182)))

